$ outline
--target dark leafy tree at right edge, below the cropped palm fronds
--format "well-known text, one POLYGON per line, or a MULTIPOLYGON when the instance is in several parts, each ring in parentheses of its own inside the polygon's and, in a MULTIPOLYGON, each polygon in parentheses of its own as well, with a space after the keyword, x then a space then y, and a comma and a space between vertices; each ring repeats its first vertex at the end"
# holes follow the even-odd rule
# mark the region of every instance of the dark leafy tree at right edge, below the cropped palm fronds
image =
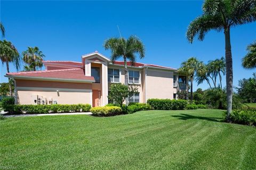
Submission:
POLYGON ((238 95, 244 102, 256 102, 256 73, 249 79, 239 80, 238 95))

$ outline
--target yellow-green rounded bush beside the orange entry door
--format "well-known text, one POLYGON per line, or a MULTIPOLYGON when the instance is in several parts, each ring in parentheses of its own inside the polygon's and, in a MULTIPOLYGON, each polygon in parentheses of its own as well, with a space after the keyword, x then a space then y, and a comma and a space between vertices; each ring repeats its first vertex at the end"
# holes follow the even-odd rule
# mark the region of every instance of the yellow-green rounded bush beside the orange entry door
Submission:
POLYGON ((93 115, 97 116, 113 116, 122 114, 123 110, 118 106, 104 106, 91 108, 90 111, 93 115))

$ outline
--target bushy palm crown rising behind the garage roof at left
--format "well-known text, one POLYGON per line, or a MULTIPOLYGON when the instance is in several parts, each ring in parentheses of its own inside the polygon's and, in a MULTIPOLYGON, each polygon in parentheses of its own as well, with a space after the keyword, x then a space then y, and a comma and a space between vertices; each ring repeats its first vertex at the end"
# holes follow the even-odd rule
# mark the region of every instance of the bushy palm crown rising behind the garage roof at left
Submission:
POLYGON ((36 68, 43 67, 43 58, 44 54, 42 51, 39 51, 38 47, 28 47, 27 51, 22 52, 23 61, 29 65, 29 67, 33 67, 33 70, 36 71, 36 68))

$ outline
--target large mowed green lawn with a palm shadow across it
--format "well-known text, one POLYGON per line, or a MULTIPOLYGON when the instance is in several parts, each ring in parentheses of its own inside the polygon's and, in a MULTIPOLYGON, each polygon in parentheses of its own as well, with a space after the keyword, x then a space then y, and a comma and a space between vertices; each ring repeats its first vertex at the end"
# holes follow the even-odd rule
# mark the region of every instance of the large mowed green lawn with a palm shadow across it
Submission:
POLYGON ((0 169, 255 169, 256 128, 221 110, 0 120, 0 169))

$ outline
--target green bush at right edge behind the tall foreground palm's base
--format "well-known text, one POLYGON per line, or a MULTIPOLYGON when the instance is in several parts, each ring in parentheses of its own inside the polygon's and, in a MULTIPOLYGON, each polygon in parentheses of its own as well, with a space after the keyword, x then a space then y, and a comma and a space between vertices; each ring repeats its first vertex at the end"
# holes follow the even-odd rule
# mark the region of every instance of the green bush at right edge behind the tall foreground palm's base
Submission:
MULTIPOLYGON (((224 116, 226 118, 227 112, 224 116)), ((230 119, 233 123, 256 126, 256 110, 233 110, 230 119)))

